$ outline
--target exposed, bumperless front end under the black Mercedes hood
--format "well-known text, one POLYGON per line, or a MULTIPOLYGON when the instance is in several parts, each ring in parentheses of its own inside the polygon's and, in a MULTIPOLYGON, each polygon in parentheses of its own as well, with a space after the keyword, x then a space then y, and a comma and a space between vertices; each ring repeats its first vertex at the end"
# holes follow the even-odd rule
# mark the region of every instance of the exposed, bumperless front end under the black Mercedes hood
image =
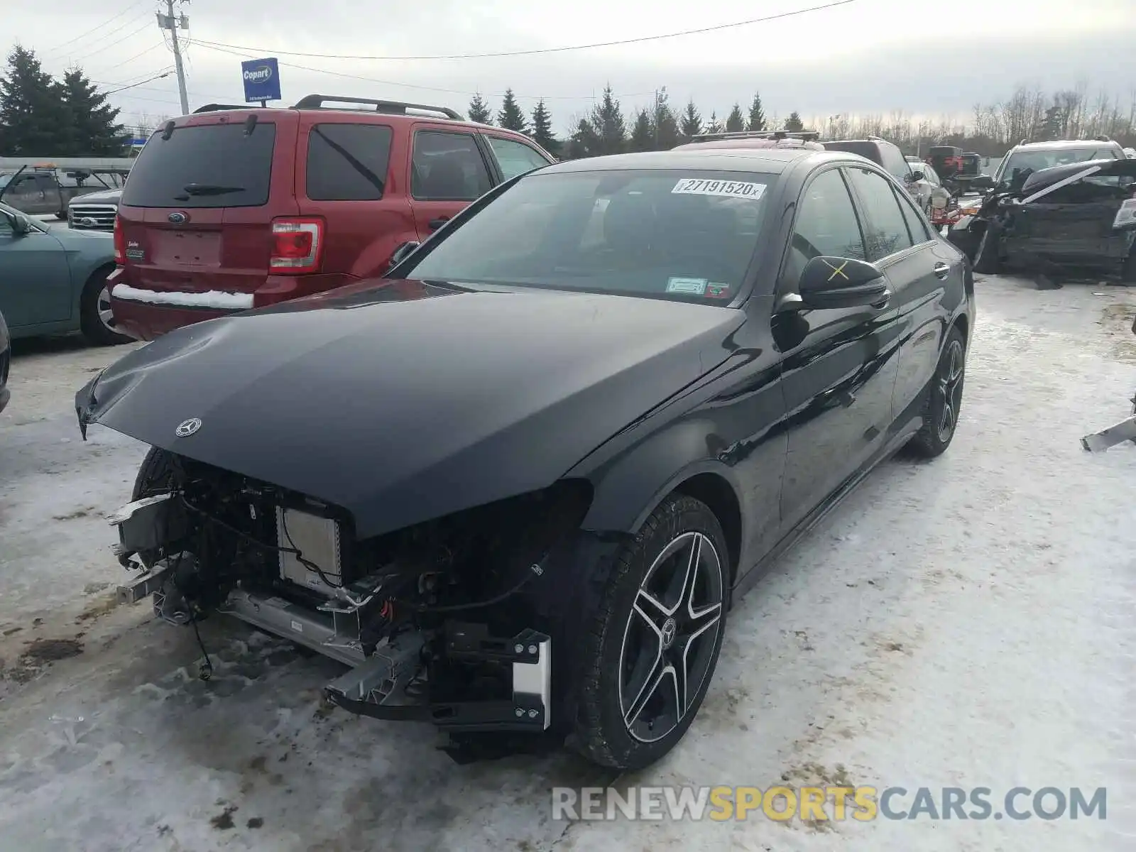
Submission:
POLYGON ((124 601, 152 595, 176 625, 235 616, 346 663, 325 694, 352 712, 454 733, 550 727, 556 625, 534 600, 552 554, 579 534, 587 482, 359 541, 336 507, 165 462, 111 518, 119 561, 140 571, 124 601))

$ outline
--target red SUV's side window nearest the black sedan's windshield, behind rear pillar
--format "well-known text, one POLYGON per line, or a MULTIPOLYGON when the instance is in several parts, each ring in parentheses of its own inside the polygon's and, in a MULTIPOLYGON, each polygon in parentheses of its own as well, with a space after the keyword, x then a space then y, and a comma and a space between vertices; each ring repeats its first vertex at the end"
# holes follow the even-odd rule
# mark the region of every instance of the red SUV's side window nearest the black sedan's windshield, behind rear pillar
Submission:
POLYGON ((473 201, 490 191, 490 173, 469 133, 419 131, 410 164, 410 194, 421 201, 473 201))

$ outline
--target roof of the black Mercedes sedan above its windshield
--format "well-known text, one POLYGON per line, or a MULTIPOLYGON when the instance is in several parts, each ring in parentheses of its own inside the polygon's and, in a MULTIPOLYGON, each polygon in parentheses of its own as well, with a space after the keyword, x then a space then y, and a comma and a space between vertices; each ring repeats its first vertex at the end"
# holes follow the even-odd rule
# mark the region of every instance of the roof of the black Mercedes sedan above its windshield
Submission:
POLYGON ((616 153, 566 160, 546 166, 540 174, 561 172, 616 172, 619 169, 699 169, 715 172, 762 172, 780 174, 799 160, 819 161, 863 159, 845 152, 833 153, 808 148, 684 148, 675 151, 616 153))

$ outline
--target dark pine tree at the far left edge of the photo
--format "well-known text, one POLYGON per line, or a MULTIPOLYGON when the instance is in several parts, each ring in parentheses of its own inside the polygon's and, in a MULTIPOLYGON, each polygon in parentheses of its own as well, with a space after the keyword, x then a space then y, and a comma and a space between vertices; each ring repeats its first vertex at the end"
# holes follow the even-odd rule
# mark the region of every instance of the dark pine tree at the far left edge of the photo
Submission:
POLYGON ((35 51, 17 44, 0 77, 0 156, 44 157, 66 151, 70 137, 59 84, 43 70, 35 51))

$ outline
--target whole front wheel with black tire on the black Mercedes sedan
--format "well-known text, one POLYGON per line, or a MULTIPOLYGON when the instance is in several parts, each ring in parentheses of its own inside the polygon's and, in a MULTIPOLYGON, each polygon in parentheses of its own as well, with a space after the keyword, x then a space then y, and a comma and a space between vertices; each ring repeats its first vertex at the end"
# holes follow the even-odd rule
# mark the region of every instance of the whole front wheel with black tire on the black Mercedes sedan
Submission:
POLYGON ((683 738, 721 651, 729 577, 726 537, 713 512, 685 495, 665 500, 617 558, 585 634, 580 708, 569 738, 576 751, 633 770, 683 738))

